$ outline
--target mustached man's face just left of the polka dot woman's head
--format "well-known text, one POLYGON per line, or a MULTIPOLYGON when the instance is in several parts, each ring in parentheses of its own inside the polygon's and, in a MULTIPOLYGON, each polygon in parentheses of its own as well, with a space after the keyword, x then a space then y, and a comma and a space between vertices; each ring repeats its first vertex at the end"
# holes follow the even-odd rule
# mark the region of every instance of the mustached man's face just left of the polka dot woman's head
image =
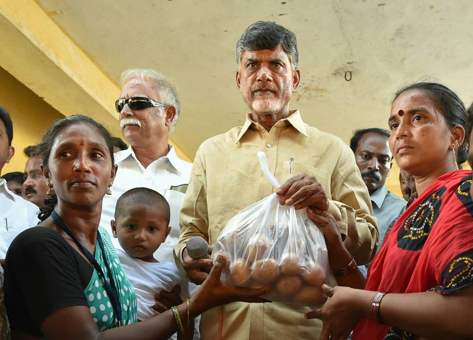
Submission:
POLYGON ((26 147, 23 152, 28 157, 24 172, 25 182, 23 182, 26 199, 42 208, 45 206, 44 199, 49 188, 41 170, 41 156, 37 153, 35 145, 26 147))

